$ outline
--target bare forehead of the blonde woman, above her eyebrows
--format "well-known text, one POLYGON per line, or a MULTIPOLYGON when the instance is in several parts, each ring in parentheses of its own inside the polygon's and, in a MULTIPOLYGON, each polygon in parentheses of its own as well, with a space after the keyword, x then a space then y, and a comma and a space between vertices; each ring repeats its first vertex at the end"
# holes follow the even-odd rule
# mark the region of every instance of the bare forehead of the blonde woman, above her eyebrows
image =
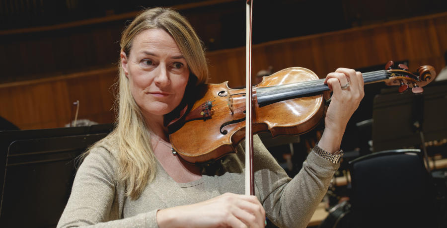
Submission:
POLYGON ((148 29, 135 37, 131 53, 138 54, 148 50, 151 52, 181 54, 174 38, 163 29, 148 29))

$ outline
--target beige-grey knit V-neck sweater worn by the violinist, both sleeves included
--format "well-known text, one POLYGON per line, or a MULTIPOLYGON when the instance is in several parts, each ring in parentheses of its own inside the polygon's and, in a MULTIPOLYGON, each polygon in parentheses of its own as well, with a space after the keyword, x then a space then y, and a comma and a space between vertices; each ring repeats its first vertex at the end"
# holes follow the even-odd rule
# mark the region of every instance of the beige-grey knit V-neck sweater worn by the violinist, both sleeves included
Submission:
MULTIPOLYGON (((72 194, 58 227, 157 228, 160 209, 194 204, 226 192, 244 194, 244 150, 237 147, 214 165, 203 168, 202 178, 176 183, 158 163, 155 180, 137 200, 125 196, 117 181, 115 140, 106 140, 86 156, 74 179, 72 194)), ((301 171, 291 179, 254 138, 255 191, 266 214, 277 226, 306 227, 339 164, 311 152, 301 171)))

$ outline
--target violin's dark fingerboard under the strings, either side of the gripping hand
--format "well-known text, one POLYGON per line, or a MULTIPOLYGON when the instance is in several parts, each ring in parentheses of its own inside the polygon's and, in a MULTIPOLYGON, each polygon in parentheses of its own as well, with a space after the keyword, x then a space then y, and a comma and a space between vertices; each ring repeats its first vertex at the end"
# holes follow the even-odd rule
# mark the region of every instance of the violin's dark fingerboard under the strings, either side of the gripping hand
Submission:
MULTIPOLYGON (((388 71, 384 70, 362 74, 365 84, 384 81, 388 78, 388 75, 388 71)), ((259 87, 256 89, 258 104, 288 100, 329 90, 328 85, 323 82, 324 78, 271 87, 259 87)))

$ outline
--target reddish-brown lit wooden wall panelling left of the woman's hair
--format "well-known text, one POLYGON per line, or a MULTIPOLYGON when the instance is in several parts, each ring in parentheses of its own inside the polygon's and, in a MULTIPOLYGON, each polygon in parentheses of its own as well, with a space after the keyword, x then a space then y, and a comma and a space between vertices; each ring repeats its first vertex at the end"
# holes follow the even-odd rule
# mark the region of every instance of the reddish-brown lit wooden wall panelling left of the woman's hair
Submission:
POLYGON ((64 127, 71 104, 79 100, 78 119, 112 123, 117 69, 0 84, 0 115, 20 129, 64 127), (110 89, 109 89, 110 88, 110 89))

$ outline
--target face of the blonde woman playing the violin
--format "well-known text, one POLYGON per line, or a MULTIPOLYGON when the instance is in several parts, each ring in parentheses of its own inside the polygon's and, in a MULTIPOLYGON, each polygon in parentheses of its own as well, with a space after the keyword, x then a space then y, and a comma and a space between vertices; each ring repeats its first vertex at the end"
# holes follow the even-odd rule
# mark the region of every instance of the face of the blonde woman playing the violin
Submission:
POLYGON ((132 96, 148 118, 157 118, 176 108, 183 98, 189 68, 174 39, 162 29, 137 35, 121 64, 129 78, 132 96))

